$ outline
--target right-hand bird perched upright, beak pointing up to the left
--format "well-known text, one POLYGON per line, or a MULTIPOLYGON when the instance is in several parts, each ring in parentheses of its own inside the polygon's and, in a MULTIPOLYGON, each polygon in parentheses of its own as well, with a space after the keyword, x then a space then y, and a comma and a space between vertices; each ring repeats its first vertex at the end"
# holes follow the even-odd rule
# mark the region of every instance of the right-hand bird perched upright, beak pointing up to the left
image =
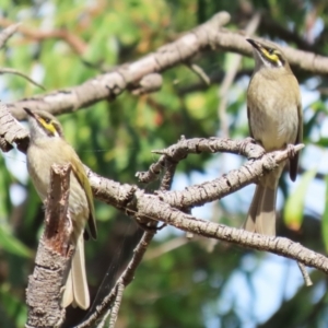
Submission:
MULTIPOLYGON (((298 82, 283 52, 269 42, 247 39, 255 69, 247 90, 250 137, 267 152, 302 142, 303 113, 298 82)), ((276 197, 284 163, 259 178, 244 229, 276 235, 276 197)), ((298 153, 290 160, 290 177, 297 175, 298 153)))

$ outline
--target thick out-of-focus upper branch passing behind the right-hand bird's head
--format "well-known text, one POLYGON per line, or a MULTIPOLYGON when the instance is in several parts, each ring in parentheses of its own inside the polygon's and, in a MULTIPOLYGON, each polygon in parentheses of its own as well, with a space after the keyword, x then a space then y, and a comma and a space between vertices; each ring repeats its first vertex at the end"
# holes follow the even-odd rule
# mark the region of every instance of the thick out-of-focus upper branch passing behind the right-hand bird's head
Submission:
MULTIPOLYGON (((245 35, 221 28, 227 19, 229 14, 221 12, 176 42, 167 44, 132 63, 120 66, 68 90, 9 103, 9 108, 16 118, 23 119, 25 117, 23 107, 48 110, 58 115, 90 106, 103 99, 113 99, 125 90, 136 87, 142 78, 163 72, 179 63, 186 63, 199 51, 209 47, 251 56, 251 47, 245 40, 245 35)), ((316 74, 328 73, 327 57, 291 47, 283 47, 283 50, 293 67, 316 74)))

